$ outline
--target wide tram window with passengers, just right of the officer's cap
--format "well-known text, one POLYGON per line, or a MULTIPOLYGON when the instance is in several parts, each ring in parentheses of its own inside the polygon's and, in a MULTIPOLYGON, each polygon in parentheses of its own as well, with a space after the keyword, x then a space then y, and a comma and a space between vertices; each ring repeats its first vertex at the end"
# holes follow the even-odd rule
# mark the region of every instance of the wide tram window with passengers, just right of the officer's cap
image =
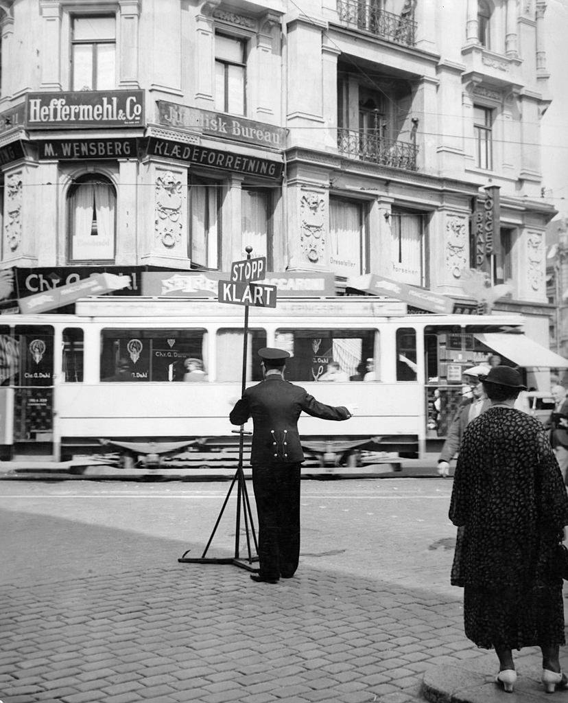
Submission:
POLYGON ((277 330, 276 346, 291 381, 381 380, 376 330, 277 330))

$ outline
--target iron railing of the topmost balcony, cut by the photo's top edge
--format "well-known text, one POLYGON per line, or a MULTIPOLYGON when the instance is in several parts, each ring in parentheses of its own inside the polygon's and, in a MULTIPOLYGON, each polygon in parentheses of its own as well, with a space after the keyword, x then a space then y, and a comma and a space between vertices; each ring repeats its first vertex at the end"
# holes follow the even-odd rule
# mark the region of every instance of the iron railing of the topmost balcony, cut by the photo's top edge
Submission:
POLYGON ((416 22, 413 15, 395 15, 365 0, 337 0, 339 21, 358 30, 366 30, 376 37, 414 46, 416 22))

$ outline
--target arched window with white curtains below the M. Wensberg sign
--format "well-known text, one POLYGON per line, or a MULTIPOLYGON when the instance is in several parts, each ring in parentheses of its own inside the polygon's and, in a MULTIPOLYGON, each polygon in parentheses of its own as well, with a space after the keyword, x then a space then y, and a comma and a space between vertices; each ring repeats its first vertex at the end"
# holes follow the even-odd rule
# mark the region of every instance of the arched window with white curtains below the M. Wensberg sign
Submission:
POLYGON ((70 188, 69 259, 113 261, 117 193, 106 176, 88 174, 70 188))

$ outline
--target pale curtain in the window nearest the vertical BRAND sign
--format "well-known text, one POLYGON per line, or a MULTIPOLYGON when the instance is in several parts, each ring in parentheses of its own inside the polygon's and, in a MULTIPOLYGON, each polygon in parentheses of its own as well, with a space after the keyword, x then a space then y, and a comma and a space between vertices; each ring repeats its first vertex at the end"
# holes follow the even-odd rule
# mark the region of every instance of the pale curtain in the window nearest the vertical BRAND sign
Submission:
POLYGON ((390 222, 392 277, 423 285, 423 215, 393 212, 390 222))

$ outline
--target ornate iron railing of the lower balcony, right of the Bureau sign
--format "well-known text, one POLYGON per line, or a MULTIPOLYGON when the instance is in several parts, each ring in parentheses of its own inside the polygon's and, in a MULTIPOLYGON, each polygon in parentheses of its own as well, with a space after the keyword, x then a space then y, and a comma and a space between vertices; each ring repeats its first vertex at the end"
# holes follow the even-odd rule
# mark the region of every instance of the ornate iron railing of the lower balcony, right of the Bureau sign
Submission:
POLYGON ((416 171, 418 147, 415 144, 385 139, 357 129, 339 127, 337 148, 342 154, 356 159, 373 161, 382 166, 416 171))

